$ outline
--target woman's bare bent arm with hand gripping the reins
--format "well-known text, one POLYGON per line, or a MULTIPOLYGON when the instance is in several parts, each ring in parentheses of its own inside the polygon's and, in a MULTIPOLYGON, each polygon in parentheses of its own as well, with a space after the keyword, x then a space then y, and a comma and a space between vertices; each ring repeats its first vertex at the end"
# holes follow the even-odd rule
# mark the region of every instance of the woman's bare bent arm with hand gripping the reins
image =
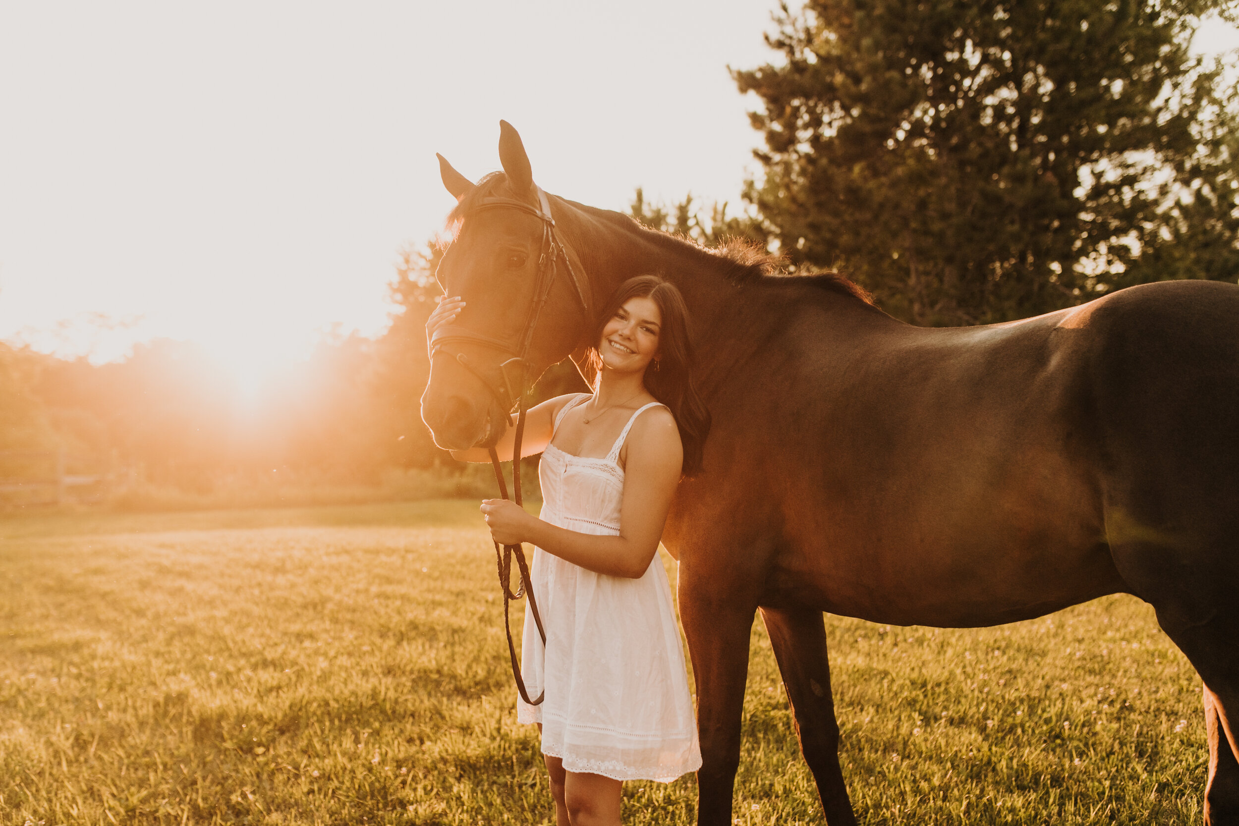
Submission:
POLYGON ((618 536, 558 528, 502 499, 483 502, 482 513, 499 542, 532 542, 596 573, 641 577, 658 552, 683 462, 675 419, 667 409, 654 407, 641 415, 628 435, 618 536))

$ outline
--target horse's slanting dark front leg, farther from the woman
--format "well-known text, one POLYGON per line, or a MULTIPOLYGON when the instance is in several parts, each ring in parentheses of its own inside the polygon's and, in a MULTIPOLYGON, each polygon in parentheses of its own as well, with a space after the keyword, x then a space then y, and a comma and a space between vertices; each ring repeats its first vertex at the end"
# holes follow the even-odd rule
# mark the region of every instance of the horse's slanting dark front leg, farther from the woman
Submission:
POLYGON ((762 608, 783 685, 795 717, 809 770, 818 783, 821 809, 830 826, 856 822, 843 769, 839 767, 839 724, 830 695, 830 663, 821 612, 810 608, 762 608))

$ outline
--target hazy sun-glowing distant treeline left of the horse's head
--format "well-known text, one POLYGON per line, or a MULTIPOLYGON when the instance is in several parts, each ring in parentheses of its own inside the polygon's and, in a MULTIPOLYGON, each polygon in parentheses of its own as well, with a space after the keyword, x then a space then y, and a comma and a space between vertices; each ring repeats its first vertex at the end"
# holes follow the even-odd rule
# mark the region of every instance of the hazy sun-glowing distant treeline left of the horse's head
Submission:
MULTIPOLYGON (((79 469, 187 492, 261 474, 374 484, 393 468, 453 467, 419 410, 436 259, 434 249, 403 250, 385 333, 321 342, 254 400, 190 342, 141 343, 98 365, 0 344, 0 479, 50 473, 32 451, 67 451, 89 466, 79 469)), ((539 394, 580 386, 565 365, 539 394)))

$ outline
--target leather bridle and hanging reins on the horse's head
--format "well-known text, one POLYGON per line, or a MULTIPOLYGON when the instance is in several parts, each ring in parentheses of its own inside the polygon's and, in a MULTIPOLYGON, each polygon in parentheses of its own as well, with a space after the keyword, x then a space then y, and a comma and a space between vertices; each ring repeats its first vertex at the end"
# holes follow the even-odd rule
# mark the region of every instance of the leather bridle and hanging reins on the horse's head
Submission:
MULTIPOLYGON (((555 219, 551 218, 550 214, 550 202, 546 199, 546 193, 541 191, 541 187, 535 187, 535 191, 538 193, 538 207, 532 207, 523 201, 515 201, 514 198, 484 198, 470 211, 472 214, 484 209, 518 209, 538 218, 543 224, 541 250, 538 258, 538 277, 534 281, 534 300, 529 306, 529 313, 525 318, 524 327, 522 328, 519 342, 515 342, 515 346, 513 346, 513 342, 506 342, 489 336, 483 336, 481 333, 475 333, 473 331, 463 327, 441 327, 436 331, 430 342, 431 364, 434 364, 435 355, 440 353, 451 355, 461 367, 472 373, 473 376, 482 383, 482 386, 484 386, 487 391, 494 396, 494 400, 499 404, 501 410, 510 411, 513 406, 518 407, 515 441, 512 447, 512 500, 515 502, 517 505, 523 504, 520 494, 520 440, 525 431, 527 402, 529 399, 529 390, 532 389, 530 381, 534 378, 533 365, 529 363, 529 348, 533 344, 538 320, 541 317, 543 308, 546 306, 546 300, 550 297, 550 290, 555 282, 555 274, 558 271, 556 263, 559 259, 564 260, 564 267, 567 270, 569 280, 571 281, 576 298, 581 305, 581 312, 585 315, 586 323, 589 324, 593 320, 589 295, 585 290, 586 285, 572 269, 572 261, 567 256, 567 250, 564 249, 564 244, 559 239, 559 234, 555 228, 555 219), (481 344, 497 350, 503 355, 510 355, 512 358, 499 363, 499 378, 502 379, 502 385, 493 384, 489 379, 487 379, 486 375, 470 363, 465 353, 458 350, 453 353, 450 350, 447 344, 453 342, 481 344), (515 373, 515 375, 513 375, 513 373, 515 373)), ((487 450, 491 453, 491 466, 494 468, 494 479, 499 484, 499 495, 503 499, 508 499, 508 484, 503 477, 503 469, 499 466, 499 454, 496 452, 494 447, 489 447, 487 450)), ((529 698, 529 692, 525 689, 525 681, 520 675, 520 664, 517 661, 517 646, 512 640, 512 624, 508 615, 508 603, 520 599, 520 597, 528 594, 529 608, 534 615, 534 622, 538 624, 538 634, 541 637, 543 645, 546 644, 546 630, 543 628, 541 614, 538 611, 538 601, 534 598, 533 583, 529 580, 529 565, 525 561, 524 546, 519 542, 517 545, 504 545, 501 551, 499 544, 494 542, 494 561, 499 572, 499 588, 503 591, 503 630, 508 635, 508 656, 512 659, 512 676, 517 681, 517 691, 520 692, 520 698, 530 706, 536 706, 540 705, 546 697, 546 690, 544 687, 541 693, 539 693, 535 700, 529 698), (512 591, 513 556, 517 557, 517 567, 520 572, 520 583, 517 586, 515 592, 512 591)))

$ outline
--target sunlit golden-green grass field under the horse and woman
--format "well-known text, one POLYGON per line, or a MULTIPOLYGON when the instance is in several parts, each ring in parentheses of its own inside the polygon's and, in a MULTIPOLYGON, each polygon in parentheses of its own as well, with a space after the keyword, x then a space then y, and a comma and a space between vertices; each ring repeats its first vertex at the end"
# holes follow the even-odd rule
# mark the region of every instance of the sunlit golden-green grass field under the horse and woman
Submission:
MULTIPOLYGON (((0 518, 0 824, 553 822, 501 607, 468 502, 0 518)), ((862 822, 1201 821, 1199 680, 1147 606, 828 628, 862 822)), ((743 724, 736 822, 820 824, 760 622, 743 724)), ((624 822, 695 794, 627 784, 624 822)))

